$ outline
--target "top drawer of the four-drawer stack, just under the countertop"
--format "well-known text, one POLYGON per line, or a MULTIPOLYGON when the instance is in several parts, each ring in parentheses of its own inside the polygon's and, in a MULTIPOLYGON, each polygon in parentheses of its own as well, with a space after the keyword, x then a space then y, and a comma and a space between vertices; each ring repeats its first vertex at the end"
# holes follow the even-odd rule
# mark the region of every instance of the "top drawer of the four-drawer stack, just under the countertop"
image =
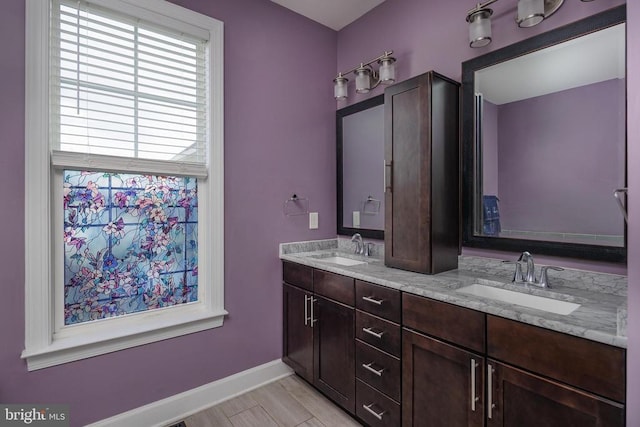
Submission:
POLYGON ((356 280, 356 308, 400 323, 401 296, 397 289, 356 280))

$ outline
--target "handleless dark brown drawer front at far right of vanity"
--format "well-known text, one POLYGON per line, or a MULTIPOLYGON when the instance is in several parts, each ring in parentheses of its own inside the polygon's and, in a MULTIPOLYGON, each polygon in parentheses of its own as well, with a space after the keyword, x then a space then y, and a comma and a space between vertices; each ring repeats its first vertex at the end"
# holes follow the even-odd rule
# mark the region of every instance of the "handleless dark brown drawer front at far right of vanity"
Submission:
POLYGON ((487 354, 600 396, 625 401, 624 349, 487 316, 487 354))

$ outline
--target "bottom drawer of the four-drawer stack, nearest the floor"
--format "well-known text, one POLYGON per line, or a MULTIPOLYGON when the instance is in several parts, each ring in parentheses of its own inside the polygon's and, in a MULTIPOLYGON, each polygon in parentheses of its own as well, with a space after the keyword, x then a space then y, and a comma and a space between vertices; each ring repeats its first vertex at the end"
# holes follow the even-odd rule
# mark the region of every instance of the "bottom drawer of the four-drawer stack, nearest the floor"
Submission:
POLYGON ((372 427, 400 425, 400 405, 356 380, 356 415, 372 427))

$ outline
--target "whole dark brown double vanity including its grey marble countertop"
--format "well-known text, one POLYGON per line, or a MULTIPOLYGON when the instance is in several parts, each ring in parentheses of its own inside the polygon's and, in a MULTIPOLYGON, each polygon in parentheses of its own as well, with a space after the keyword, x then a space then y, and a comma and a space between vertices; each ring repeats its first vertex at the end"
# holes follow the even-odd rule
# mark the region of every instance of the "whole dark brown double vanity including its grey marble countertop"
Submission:
POLYGON ((283 360, 371 426, 623 426, 624 276, 461 256, 424 275, 348 239, 282 244, 283 360), (486 422, 486 424, 485 424, 486 422))

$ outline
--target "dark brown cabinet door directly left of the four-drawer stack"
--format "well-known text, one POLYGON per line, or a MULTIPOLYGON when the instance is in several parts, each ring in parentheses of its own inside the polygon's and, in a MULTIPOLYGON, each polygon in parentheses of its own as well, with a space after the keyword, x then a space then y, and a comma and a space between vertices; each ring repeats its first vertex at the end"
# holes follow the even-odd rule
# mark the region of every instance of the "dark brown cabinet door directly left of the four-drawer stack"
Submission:
POLYGON ((316 296, 314 385, 350 413, 355 410, 354 309, 316 296))

